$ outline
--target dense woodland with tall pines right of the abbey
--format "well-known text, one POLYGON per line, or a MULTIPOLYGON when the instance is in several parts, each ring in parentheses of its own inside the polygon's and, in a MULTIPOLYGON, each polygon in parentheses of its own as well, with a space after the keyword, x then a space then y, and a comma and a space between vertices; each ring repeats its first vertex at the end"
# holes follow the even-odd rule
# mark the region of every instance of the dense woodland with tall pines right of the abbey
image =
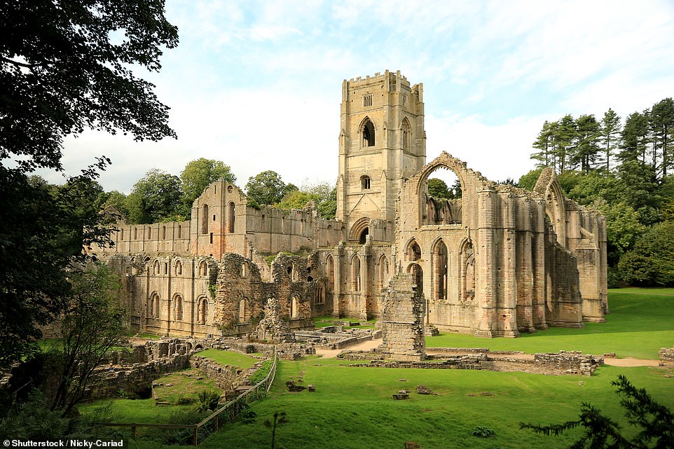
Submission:
POLYGON ((545 122, 531 158, 532 189, 554 167, 569 198, 607 217, 609 286, 674 285, 674 102, 666 98, 624 123, 609 109, 545 122))

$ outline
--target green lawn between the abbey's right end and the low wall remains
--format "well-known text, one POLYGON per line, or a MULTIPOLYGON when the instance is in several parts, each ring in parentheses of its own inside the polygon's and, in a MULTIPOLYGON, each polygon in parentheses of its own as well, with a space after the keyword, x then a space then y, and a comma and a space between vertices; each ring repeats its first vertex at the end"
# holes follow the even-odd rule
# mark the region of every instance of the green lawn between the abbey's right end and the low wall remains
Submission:
POLYGON ((583 329, 551 327, 520 338, 476 338, 455 333, 427 337, 427 347, 488 347, 529 353, 579 350, 586 354, 615 352, 618 357, 657 359, 661 347, 674 343, 674 289, 614 289, 609 293, 605 323, 585 323, 583 329))

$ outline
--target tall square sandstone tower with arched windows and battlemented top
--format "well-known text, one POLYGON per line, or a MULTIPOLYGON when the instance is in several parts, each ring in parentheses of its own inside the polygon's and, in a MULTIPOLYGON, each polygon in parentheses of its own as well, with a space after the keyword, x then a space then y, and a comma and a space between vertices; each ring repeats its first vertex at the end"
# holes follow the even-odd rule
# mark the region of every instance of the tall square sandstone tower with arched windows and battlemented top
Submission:
POLYGON ((364 243, 369 220, 395 219, 404 180, 426 163, 423 85, 400 71, 342 83, 337 219, 364 243))

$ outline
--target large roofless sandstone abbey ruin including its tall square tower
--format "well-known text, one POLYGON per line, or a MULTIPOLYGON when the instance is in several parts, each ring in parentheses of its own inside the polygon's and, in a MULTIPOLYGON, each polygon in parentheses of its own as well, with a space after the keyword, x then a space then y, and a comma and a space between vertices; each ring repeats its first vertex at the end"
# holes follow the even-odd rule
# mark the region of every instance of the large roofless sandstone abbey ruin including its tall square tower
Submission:
POLYGON ((422 84, 390 71, 345 80, 335 220, 312 204, 251 207, 217 181, 190 221, 119 224, 114 247, 94 251, 123 275, 133 328, 159 335, 252 333, 270 298, 291 330, 325 315, 379 319, 405 289, 420 298, 419 325, 441 331, 516 337, 603 321, 604 216, 565 198, 551 169, 526 191, 448 153, 427 163, 425 144, 422 84), (456 174, 460 198, 428 194, 436 170, 456 174))

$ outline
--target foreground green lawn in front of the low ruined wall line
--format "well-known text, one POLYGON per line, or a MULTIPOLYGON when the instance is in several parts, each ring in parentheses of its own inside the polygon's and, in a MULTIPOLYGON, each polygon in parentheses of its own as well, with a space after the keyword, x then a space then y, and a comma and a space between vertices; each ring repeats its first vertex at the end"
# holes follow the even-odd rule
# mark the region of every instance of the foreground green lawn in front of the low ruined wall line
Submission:
POLYGON ((268 448, 271 430, 263 421, 279 411, 289 420, 277 429, 277 447, 282 448, 402 448, 409 440, 425 449, 562 448, 573 434, 537 436, 520 430, 519 422, 574 420, 581 404, 589 401, 628 428, 619 396, 610 385, 619 373, 674 407, 674 380, 663 377, 671 373, 663 368, 603 366, 586 377, 317 366, 316 361, 280 362, 270 397, 252 404, 256 421, 228 424, 201 447, 268 448), (316 385, 315 393, 287 392, 284 382, 299 375, 303 385, 316 385), (416 394, 417 385, 426 385, 439 396, 416 394), (411 390, 410 399, 391 399, 399 389, 411 390), (472 436, 476 426, 493 429, 496 437, 472 436))

